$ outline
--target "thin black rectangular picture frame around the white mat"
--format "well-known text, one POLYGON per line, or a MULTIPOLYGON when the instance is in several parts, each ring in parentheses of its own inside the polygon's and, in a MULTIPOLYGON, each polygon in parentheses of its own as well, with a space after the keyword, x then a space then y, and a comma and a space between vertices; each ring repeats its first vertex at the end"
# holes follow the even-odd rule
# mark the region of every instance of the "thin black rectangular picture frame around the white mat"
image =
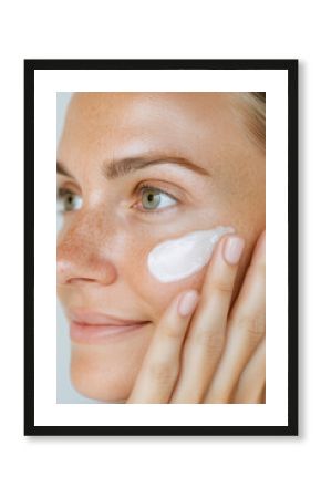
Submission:
POLYGON ((298 435, 298 65, 294 59, 24 60, 24 435, 298 435), (37 426, 34 424, 34 73, 37 70, 284 70, 288 72, 288 424, 283 426, 37 426))

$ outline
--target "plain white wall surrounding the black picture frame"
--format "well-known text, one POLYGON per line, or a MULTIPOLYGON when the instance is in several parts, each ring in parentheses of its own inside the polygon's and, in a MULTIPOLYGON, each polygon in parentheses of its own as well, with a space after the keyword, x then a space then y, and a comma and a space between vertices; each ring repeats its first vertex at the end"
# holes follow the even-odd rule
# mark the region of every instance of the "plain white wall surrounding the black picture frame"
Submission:
POLYGON ((30 0, 1 19, 2 495, 320 496, 319 2, 30 0), (300 58, 300 437, 23 437, 24 58, 300 58))

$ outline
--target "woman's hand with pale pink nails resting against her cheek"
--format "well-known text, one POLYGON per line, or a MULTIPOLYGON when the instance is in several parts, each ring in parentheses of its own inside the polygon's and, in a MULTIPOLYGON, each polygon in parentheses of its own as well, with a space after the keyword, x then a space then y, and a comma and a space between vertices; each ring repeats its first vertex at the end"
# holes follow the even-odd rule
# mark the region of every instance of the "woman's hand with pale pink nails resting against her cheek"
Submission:
POLYGON ((244 240, 219 241, 201 294, 165 311, 126 403, 265 403, 265 242, 263 232, 230 309, 244 240))

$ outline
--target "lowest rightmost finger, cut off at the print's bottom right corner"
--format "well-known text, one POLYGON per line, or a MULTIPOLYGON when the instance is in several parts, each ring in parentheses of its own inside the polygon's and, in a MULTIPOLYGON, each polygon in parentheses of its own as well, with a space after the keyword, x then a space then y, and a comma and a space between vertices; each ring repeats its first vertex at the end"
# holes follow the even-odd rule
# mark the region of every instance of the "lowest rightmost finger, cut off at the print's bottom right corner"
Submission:
POLYGON ((262 401, 265 385, 266 340, 263 338, 239 378, 232 403, 265 403, 262 401))

